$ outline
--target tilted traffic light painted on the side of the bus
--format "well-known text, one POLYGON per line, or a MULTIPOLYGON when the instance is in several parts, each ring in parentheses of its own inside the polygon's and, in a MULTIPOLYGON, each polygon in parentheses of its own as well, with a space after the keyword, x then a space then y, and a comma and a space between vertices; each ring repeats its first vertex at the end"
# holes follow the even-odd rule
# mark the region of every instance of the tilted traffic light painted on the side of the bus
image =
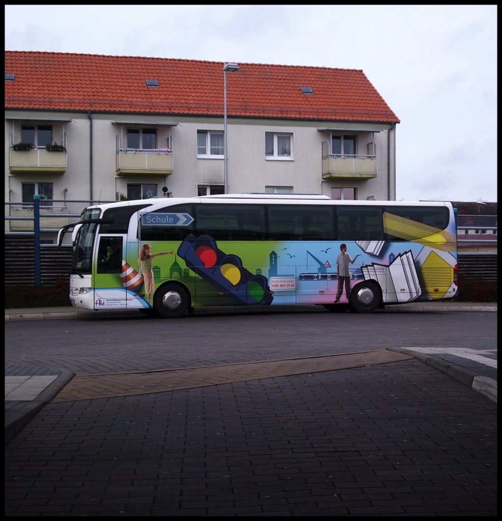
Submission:
POLYGON ((192 271, 236 304, 268 305, 274 298, 266 277, 253 275, 242 266, 240 257, 219 250, 210 235, 188 235, 178 255, 192 271))

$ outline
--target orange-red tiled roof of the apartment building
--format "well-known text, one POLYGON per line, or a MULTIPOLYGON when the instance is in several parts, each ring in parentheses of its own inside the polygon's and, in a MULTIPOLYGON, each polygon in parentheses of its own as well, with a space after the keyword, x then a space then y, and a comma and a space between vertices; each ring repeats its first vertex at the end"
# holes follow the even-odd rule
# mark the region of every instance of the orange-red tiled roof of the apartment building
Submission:
MULTIPOLYGON (((239 67, 227 73, 229 116, 399 123, 362 70, 239 67)), ((223 115, 219 61, 6 51, 5 72, 16 75, 5 81, 8 109, 223 115)))

